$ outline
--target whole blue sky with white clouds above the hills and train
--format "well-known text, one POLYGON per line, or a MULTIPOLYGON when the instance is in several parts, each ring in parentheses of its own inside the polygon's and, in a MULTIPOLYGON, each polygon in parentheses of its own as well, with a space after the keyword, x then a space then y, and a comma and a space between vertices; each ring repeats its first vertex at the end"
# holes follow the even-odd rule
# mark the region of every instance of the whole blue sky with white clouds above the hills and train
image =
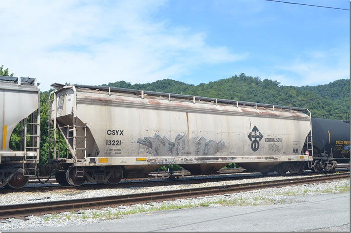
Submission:
MULTIPOLYGON (((347 0, 287 0, 349 9, 347 0)), ((59 83, 245 73, 282 85, 349 78, 350 11, 264 0, 15 1, 0 4, 0 65, 59 83)))

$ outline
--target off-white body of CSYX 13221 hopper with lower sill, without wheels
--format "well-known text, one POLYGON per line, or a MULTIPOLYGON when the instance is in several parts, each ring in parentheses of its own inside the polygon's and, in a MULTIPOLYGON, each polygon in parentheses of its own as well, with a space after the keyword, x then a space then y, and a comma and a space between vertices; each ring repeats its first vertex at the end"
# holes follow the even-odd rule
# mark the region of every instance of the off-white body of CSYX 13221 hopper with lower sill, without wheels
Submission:
MULTIPOLYGON (((62 109, 57 119, 68 124, 76 117, 81 125, 76 147, 83 149, 77 149, 77 159, 84 160, 85 149, 87 157, 108 158, 108 163, 101 160, 105 165, 308 159, 301 151, 310 117, 299 111, 86 89, 76 89, 76 99, 67 94, 62 104, 57 101, 62 109)), ((84 163, 91 165, 88 160, 84 163)))

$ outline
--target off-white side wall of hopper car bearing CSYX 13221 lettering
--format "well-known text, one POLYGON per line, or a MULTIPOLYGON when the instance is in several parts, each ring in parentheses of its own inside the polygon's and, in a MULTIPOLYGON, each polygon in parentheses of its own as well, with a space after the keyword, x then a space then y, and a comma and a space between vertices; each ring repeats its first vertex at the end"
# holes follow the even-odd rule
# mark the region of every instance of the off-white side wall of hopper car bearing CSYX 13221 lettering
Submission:
POLYGON ((152 108, 151 100, 131 98, 120 103, 120 99, 113 101, 120 97, 100 95, 90 93, 83 98, 78 93, 76 113, 91 131, 101 151, 99 157, 300 158, 310 130, 309 117, 301 113, 296 117, 294 112, 232 106, 208 110, 208 104, 182 103, 179 107, 176 101, 170 108, 156 100, 152 108), (135 105, 140 100, 144 104, 135 105))

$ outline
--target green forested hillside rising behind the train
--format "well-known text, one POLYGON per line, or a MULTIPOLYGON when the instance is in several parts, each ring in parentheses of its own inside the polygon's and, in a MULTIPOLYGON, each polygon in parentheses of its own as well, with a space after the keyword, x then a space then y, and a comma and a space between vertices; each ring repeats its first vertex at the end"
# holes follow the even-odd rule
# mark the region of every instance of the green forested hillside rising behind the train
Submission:
POLYGON ((350 114, 350 79, 339 79, 325 85, 297 87, 241 74, 199 85, 163 79, 133 85, 117 81, 103 86, 304 107, 317 118, 340 119, 340 116, 344 116, 345 119, 345 112, 350 114))

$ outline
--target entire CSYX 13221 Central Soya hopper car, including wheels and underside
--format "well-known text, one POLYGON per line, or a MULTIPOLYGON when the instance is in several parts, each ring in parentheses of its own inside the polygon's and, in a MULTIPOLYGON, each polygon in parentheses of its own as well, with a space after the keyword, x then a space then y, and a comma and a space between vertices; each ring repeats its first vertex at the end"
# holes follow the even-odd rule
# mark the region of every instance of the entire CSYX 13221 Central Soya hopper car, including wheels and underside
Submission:
POLYGON ((51 157, 61 170, 58 179, 65 176, 72 185, 118 183, 123 173, 142 176, 163 164, 179 164, 192 174, 213 173, 228 163, 262 173, 300 173, 312 160, 302 151, 311 133, 311 117, 303 108, 52 86, 50 127, 59 129, 68 151, 59 158, 54 146, 51 157))

